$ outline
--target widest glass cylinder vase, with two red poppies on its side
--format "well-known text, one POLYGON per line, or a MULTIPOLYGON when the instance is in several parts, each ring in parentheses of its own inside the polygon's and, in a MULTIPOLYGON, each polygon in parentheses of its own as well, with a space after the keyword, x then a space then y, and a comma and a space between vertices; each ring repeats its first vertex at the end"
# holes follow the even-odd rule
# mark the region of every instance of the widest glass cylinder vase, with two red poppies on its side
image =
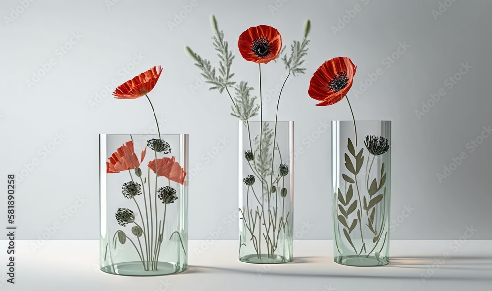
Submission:
POLYGON ((188 267, 188 135, 100 135, 100 268, 157 276, 188 267))

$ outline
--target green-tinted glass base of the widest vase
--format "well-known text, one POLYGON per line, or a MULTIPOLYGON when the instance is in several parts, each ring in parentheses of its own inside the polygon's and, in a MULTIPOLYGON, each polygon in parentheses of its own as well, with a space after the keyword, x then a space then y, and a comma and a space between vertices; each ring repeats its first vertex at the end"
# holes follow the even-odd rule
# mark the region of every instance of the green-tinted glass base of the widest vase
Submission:
POLYGON ((134 262, 122 262, 115 265, 109 265, 101 268, 101 271, 108 274, 122 275, 122 276, 162 276, 181 273, 188 268, 187 265, 183 267, 170 264, 168 262, 159 262, 157 264, 157 270, 146 271, 140 261, 134 262))

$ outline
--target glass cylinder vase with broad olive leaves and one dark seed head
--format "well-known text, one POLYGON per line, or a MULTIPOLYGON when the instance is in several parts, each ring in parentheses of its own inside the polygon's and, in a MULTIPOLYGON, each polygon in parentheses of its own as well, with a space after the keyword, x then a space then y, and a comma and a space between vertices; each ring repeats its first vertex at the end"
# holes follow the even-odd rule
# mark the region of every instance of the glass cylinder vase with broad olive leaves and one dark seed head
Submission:
POLYGON ((332 121, 333 257, 381 266, 389 263, 391 121, 356 125, 332 121))

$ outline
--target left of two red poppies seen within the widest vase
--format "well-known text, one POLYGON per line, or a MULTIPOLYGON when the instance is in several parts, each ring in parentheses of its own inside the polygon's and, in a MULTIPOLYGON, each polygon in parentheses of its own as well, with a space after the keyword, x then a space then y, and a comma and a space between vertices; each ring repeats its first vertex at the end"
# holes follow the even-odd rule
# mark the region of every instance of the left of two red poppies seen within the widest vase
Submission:
POLYGON ((109 162, 106 162, 106 173, 119 173, 138 168, 144 160, 146 150, 147 147, 142 151, 142 157, 139 161, 133 151, 133 142, 126 142, 111 155, 109 162))

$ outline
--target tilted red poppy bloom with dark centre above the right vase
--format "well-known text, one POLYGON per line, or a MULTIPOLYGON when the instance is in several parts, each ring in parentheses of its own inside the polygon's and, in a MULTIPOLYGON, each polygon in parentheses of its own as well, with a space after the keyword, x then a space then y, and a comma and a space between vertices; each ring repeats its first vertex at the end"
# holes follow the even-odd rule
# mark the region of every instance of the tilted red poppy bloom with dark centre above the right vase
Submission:
POLYGON ((357 66, 347 57, 325 61, 309 84, 309 96, 321 101, 316 106, 332 105, 343 99, 352 87, 356 69, 357 66))

